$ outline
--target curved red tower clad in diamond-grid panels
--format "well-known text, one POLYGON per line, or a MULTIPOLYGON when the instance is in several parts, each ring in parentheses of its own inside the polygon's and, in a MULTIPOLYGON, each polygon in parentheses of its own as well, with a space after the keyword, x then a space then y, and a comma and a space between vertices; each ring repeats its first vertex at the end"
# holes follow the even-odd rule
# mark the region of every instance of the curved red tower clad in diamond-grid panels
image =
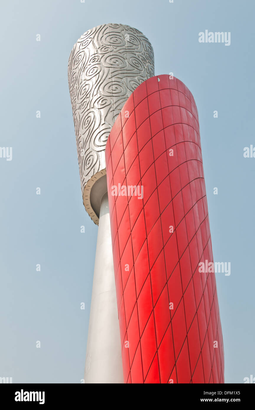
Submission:
POLYGON ((129 97, 106 144, 125 383, 224 383, 198 112, 175 77, 129 97), (216 347, 218 346, 218 347, 216 347))

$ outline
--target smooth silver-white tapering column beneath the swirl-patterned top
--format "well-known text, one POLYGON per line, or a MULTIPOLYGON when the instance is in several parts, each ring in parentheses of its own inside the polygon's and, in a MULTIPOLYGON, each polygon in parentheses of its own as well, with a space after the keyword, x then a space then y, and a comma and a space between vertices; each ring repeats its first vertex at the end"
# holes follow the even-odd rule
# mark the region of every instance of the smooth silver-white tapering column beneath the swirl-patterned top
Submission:
POLYGON ((107 193, 100 206, 84 379, 124 383, 107 193))

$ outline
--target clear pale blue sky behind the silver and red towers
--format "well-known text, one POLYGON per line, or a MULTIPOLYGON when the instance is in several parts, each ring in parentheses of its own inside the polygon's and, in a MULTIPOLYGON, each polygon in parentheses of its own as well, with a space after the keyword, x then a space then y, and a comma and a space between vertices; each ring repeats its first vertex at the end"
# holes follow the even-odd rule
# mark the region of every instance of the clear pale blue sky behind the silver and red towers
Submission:
POLYGON ((255 147, 254 14, 253 0, 1 2, 0 146, 12 147, 0 158, 1 377, 83 378, 98 228, 82 202, 67 63, 103 23, 142 31, 155 74, 173 72, 193 93, 214 261, 231 262, 230 276, 216 273, 225 382, 255 376, 255 158, 244 158, 255 147), (205 30, 230 32, 230 46, 200 43, 205 30))

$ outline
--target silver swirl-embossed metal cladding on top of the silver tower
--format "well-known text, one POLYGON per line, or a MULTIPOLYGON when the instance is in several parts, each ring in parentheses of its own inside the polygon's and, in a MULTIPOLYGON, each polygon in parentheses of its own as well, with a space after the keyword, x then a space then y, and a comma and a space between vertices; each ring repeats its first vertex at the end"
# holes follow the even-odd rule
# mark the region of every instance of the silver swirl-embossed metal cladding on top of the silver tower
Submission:
POLYGON ((90 178, 106 168, 106 141, 125 101, 152 76, 153 48, 128 25, 99 25, 74 45, 68 81, 83 194, 90 178))

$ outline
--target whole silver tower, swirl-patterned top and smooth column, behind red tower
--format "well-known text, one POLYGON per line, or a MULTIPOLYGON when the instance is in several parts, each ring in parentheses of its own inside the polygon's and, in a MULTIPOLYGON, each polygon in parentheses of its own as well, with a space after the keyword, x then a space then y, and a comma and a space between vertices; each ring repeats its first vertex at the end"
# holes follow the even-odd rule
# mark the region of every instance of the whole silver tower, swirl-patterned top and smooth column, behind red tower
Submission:
POLYGON ((110 236, 105 147, 124 103, 154 76, 149 40, 135 28, 103 24, 74 45, 68 81, 83 204, 99 225, 85 363, 85 383, 123 383, 110 236))

